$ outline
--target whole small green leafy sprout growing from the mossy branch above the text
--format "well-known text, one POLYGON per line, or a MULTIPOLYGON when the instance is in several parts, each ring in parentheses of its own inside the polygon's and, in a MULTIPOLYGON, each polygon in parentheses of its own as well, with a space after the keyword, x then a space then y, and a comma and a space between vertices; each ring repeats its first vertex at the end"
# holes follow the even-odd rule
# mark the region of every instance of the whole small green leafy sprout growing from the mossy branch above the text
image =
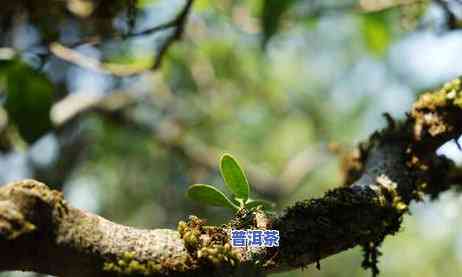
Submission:
POLYGON ((241 208, 249 209, 256 206, 263 206, 266 209, 271 208, 272 204, 268 201, 249 198, 249 182, 241 166, 233 156, 224 154, 221 157, 220 171, 226 187, 233 193, 232 198, 228 198, 218 188, 206 184, 190 186, 187 192, 188 197, 201 203, 226 207, 232 210, 241 208))

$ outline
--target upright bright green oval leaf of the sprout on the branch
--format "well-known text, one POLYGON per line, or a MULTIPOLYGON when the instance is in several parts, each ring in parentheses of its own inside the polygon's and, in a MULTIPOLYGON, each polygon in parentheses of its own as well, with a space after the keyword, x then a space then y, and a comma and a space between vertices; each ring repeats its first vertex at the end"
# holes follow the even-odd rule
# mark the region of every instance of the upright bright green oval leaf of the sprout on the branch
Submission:
POLYGON ((230 154, 224 154, 221 157, 220 169, 226 185, 234 196, 242 199, 243 202, 247 201, 250 191, 249 182, 236 159, 230 154))

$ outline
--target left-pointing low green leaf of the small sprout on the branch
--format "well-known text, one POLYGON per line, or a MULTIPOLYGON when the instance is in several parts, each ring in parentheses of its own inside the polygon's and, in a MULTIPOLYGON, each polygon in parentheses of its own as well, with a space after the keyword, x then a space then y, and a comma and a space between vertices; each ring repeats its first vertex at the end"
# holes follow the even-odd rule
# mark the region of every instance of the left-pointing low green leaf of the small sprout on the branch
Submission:
POLYGON ((239 207, 231 202, 231 200, 229 200, 223 192, 211 185, 192 185, 189 187, 187 195, 195 201, 212 206, 227 207, 236 210, 239 209, 239 207))

